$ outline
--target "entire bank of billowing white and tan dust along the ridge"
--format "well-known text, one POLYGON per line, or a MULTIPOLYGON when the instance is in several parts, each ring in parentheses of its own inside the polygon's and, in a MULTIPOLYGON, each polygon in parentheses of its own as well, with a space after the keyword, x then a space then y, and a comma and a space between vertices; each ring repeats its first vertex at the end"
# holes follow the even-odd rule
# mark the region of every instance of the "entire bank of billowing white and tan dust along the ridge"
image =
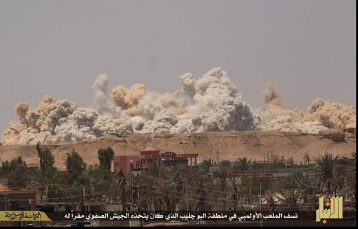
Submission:
POLYGON ((307 112, 291 110, 272 86, 262 94, 263 109, 254 109, 242 100, 238 88, 220 67, 198 79, 185 73, 179 81, 181 90, 173 93, 149 91, 143 84, 130 88, 119 85, 109 93, 108 76, 101 74, 92 85, 94 99, 89 108, 65 99, 55 101, 51 96, 44 96, 36 108, 20 102, 15 107, 19 121, 9 123, 2 144, 77 142, 111 133, 317 133, 356 126, 356 109, 351 106, 315 99, 307 112))

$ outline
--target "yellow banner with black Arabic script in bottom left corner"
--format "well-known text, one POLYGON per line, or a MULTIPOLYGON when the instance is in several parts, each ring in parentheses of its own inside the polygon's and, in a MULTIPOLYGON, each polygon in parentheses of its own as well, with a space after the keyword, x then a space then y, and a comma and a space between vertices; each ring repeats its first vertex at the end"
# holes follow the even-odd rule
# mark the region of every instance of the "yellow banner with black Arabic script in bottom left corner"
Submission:
POLYGON ((0 221, 51 221, 42 211, 0 211, 0 221))

